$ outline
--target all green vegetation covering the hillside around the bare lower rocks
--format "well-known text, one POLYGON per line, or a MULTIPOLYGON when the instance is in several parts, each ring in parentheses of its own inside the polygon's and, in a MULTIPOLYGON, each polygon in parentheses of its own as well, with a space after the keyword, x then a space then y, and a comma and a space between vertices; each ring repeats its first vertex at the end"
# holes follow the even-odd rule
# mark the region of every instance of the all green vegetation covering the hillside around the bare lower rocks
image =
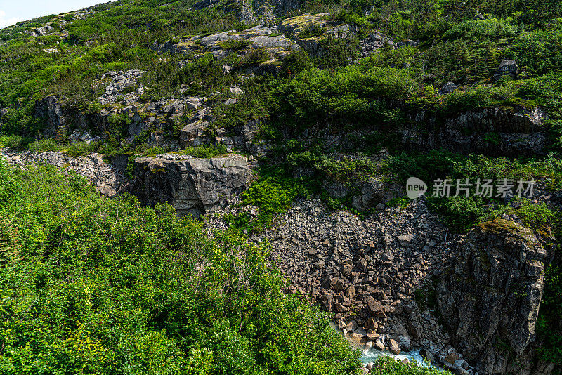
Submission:
MULTIPOLYGON (((0 372, 360 374, 358 352, 318 308, 284 293, 268 244, 248 244, 246 235, 296 198, 368 215, 374 207, 358 209, 353 195, 374 176, 400 185, 410 176, 536 180, 554 196, 562 188, 562 3, 118 0, 0 29, 0 149, 99 152, 129 164, 164 152, 214 157, 230 150, 221 139, 248 124, 265 146, 254 152, 259 168, 240 206, 259 213, 226 216, 230 230, 212 236, 171 206, 106 199, 72 173, 0 161, 0 372), (136 70, 107 93, 112 77, 136 70), (72 121, 48 129, 56 111, 41 103, 50 96, 72 121), (186 97, 197 106, 176 110, 186 97), (544 136, 540 150, 530 142, 502 154, 527 138, 485 126, 456 129, 481 136, 476 152, 416 143, 478 111, 525 124, 542 114, 532 123, 544 136), (192 124, 205 124, 197 131, 211 141, 178 141, 192 124), (71 140, 74 131, 92 140, 71 140), (332 145, 322 131, 344 141, 332 145), (325 181, 349 193, 333 197, 325 181)), ((549 242, 537 336, 547 343, 540 358, 562 365, 558 211, 473 195, 427 204, 455 232, 509 216, 549 242)), ((374 367, 437 372, 387 360, 374 367)))

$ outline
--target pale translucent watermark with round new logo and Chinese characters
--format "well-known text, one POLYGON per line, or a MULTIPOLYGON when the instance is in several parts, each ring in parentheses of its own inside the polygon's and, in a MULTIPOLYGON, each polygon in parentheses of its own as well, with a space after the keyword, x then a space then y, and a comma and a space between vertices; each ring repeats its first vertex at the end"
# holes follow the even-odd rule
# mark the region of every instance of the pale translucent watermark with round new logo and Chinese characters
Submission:
MULTIPOLYGON (((433 180, 431 185, 431 197, 483 197, 483 198, 506 198, 506 197, 528 197, 533 196, 535 180, 511 180, 499 178, 497 180, 481 179, 445 179, 433 180)), ((410 199, 417 199, 425 195, 428 186, 424 181, 416 177, 410 177, 406 181, 406 195, 410 199)))

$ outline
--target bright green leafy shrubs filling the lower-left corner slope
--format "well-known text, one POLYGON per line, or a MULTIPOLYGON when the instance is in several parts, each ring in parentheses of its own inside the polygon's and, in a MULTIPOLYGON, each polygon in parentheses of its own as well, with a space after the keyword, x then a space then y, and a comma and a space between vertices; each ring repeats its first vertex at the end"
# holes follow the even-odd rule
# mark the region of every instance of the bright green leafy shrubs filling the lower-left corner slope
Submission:
POLYGON ((282 292, 266 246, 0 164, 3 374, 353 374, 358 353, 282 292))

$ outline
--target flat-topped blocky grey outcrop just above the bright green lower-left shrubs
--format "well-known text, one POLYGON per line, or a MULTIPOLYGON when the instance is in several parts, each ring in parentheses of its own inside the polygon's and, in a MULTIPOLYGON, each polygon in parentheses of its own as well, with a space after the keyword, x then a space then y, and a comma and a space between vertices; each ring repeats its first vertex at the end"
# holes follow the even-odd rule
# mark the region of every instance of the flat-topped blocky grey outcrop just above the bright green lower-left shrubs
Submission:
POLYGON ((211 159, 174 154, 138 157, 133 173, 141 202, 167 202, 179 216, 194 217, 226 206, 251 176, 248 159, 237 154, 211 159))

